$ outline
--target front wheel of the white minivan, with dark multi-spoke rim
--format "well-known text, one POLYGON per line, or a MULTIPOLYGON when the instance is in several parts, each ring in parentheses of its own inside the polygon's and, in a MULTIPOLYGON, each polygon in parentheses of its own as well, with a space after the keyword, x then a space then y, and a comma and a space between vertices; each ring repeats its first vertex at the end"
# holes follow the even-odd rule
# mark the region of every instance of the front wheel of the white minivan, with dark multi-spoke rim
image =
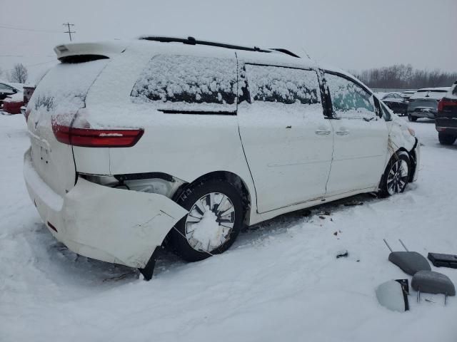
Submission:
POLYGON ((411 160, 407 152, 396 152, 388 162, 381 180, 381 195, 391 196, 405 191, 409 181, 411 160))

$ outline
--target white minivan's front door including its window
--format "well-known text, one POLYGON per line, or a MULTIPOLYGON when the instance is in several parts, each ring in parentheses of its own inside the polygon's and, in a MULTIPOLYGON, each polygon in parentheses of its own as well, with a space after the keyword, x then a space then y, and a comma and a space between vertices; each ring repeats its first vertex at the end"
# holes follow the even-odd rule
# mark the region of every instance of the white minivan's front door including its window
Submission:
POLYGON ((371 94, 346 76, 326 73, 335 132, 327 196, 376 187, 387 155, 388 130, 371 94))

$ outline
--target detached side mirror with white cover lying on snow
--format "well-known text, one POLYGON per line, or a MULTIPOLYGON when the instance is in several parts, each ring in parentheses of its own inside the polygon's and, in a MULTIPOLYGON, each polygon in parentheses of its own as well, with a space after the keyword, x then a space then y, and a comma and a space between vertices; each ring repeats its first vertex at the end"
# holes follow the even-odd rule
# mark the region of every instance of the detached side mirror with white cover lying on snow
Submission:
POLYGON ((409 310, 408 279, 386 281, 376 289, 379 304, 392 311, 405 312, 409 310))

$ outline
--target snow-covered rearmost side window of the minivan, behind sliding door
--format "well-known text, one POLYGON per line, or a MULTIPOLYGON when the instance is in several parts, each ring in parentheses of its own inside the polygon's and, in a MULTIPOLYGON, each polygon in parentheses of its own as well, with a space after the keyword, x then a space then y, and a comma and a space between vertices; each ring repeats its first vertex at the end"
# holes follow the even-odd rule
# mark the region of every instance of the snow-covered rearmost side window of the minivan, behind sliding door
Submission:
POLYGON ((155 56, 136 81, 131 96, 149 103, 235 105, 236 60, 155 56))

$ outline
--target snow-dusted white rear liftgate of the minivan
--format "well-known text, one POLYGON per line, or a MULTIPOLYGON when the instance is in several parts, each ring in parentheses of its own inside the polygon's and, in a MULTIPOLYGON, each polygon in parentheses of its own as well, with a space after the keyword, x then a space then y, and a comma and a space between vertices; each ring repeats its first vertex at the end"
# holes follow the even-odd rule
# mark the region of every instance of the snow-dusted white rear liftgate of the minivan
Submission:
POLYGON ((52 125, 70 125, 84 108, 92 83, 108 59, 59 63, 40 81, 27 110, 31 157, 36 172, 59 195, 74 187, 76 170, 71 145, 56 140, 52 125))

